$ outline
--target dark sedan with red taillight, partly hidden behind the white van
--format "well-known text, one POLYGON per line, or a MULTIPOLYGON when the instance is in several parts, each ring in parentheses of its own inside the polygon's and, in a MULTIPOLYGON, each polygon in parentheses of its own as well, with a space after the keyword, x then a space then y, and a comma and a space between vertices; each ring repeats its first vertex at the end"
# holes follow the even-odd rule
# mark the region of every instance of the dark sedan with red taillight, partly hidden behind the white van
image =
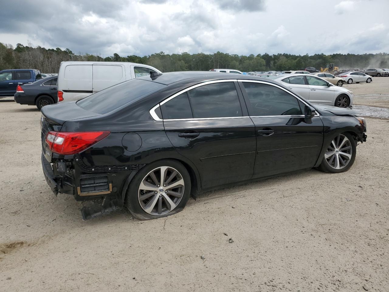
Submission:
POLYGON ((57 76, 51 76, 39 79, 31 84, 19 84, 14 94, 15 102, 37 106, 38 109, 49 104, 56 104, 58 102, 57 79, 57 76))

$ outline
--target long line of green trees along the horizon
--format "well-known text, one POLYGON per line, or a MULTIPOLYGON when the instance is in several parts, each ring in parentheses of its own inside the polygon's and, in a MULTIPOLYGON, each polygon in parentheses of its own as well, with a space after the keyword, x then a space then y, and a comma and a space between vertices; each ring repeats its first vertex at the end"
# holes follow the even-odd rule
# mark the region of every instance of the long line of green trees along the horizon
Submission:
POLYGON ((186 70, 210 70, 216 68, 238 69, 243 72, 267 70, 299 70, 305 67, 320 69, 326 63, 335 63, 340 69, 368 67, 389 68, 389 54, 315 54, 315 55, 236 55, 222 52, 214 54, 165 54, 154 53, 147 56, 113 56, 103 58, 101 55, 78 53, 70 49, 46 49, 40 46, 17 44, 16 47, 0 42, 0 70, 4 69, 38 69, 42 73, 58 73, 62 61, 105 61, 105 62, 134 62, 151 65, 162 72, 186 70))

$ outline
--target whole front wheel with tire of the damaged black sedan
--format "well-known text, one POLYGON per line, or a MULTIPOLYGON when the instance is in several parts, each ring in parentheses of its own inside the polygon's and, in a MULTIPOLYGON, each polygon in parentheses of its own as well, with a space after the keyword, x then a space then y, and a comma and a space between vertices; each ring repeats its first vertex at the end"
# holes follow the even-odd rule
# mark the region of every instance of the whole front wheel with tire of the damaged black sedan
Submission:
POLYGON ((339 173, 348 171, 354 164, 356 142, 349 133, 338 134, 332 139, 324 153, 319 170, 339 173))

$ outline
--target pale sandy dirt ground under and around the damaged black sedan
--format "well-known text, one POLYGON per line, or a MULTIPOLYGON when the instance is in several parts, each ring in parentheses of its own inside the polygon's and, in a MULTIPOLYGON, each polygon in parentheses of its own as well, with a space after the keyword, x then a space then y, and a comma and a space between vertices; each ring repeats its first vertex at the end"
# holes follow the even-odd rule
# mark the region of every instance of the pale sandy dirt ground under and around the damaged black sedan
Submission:
POLYGON ((367 118, 348 172, 208 192, 159 220, 83 222, 44 180, 40 112, 3 99, 0 118, 0 291, 389 291, 389 120, 367 118))

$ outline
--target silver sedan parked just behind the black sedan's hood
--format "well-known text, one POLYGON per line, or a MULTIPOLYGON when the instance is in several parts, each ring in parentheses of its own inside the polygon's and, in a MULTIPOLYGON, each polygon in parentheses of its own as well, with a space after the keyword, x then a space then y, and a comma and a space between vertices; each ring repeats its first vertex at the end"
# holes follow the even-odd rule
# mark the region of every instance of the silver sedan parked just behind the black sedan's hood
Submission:
POLYGON ((347 88, 334 86, 317 76, 307 74, 283 74, 268 77, 300 94, 313 104, 329 104, 337 107, 349 107, 354 97, 347 88))

